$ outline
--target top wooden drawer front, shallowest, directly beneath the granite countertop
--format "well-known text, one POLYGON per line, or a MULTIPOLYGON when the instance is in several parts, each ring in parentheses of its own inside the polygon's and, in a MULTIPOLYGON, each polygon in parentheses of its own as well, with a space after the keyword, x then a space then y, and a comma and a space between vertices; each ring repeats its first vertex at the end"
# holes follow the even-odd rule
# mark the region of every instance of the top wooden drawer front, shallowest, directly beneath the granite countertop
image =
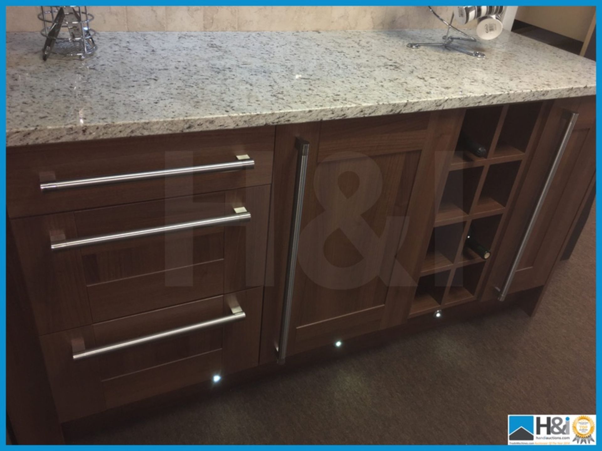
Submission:
POLYGON ((267 185, 272 180, 274 133, 274 127, 258 127, 90 141, 85 148, 81 143, 11 148, 8 215, 267 185), (69 183, 42 189, 55 182, 69 183))

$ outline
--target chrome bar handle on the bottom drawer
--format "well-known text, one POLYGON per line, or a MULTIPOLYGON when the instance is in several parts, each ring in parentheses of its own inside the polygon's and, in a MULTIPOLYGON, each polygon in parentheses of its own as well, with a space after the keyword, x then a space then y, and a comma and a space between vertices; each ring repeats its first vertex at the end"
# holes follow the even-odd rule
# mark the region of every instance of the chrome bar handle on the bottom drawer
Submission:
POLYGON ((73 352, 73 360, 82 360, 84 358, 96 357, 102 354, 109 354, 110 352, 121 351, 122 349, 132 348, 132 346, 144 345, 144 343, 158 342, 159 340, 169 339, 178 337, 184 334, 197 332, 213 327, 223 326, 235 321, 241 321, 246 318, 246 313, 240 305, 234 305, 230 307, 231 314, 221 316, 216 319, 209 319, 209 321, 197 322, 184 327, 178 327, 176 329, 166 330, 157 334, 145 335, 133 340, 124 340, 123 342, 113 343, 112 345, 98 346, 97 348, 84 349, 84 351, 73 352))

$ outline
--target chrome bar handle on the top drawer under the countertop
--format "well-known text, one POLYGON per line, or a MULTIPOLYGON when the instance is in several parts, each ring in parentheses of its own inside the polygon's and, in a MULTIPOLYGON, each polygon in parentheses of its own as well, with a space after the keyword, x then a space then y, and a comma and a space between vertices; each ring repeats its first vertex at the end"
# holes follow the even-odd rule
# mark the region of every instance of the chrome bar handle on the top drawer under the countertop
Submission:
POLYGON ((237 155, 237 161, 228 163, 204 164, 185 168, 164 169, 160 171, 146 171, 130 174, 117 174, 114 176, 91 177, 89 179, 63 180, 62 182, 40 183, 42 192, 57 191, 58 189, 82 188, 83 186, 108 185, 109 183, 133 182, 135 180, 159 179, 161 177, 184 176, 187 174, 205 174, 212 172, 237 171, 253 169, 255 160, 249 155, 237 155))

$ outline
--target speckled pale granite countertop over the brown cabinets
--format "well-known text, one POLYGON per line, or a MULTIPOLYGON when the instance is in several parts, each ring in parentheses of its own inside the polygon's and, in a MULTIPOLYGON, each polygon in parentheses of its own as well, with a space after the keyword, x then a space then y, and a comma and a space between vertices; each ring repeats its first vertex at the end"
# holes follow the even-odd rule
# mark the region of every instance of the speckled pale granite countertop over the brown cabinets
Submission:
POLYGON ((409 49, 441 29, 99 32, 84 61, 7 34, 7 145, 430 111, 595 94, 595 62, 506 32, 479 60, 409 49))

